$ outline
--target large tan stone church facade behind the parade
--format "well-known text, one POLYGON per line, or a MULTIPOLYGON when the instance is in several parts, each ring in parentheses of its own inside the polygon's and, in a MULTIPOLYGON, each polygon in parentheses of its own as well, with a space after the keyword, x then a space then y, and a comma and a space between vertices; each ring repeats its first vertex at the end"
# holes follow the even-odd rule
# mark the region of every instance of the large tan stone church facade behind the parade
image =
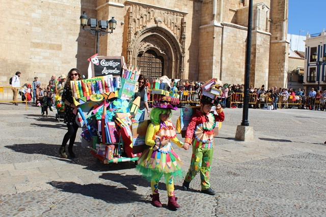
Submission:
MULTIPOLYGON (((288 0, 254 0, 250 83, 285 86, 288 0)), ((21 71, 31 83, 77 67, 87 74, 96 37, 79 26, 83 11, 110 20, 113 34, 99 37, 99 55, 124 56, 145 76, 226 83, 244 82, 248 0, 80 0, 3 4, 0 84, 21 71)))

